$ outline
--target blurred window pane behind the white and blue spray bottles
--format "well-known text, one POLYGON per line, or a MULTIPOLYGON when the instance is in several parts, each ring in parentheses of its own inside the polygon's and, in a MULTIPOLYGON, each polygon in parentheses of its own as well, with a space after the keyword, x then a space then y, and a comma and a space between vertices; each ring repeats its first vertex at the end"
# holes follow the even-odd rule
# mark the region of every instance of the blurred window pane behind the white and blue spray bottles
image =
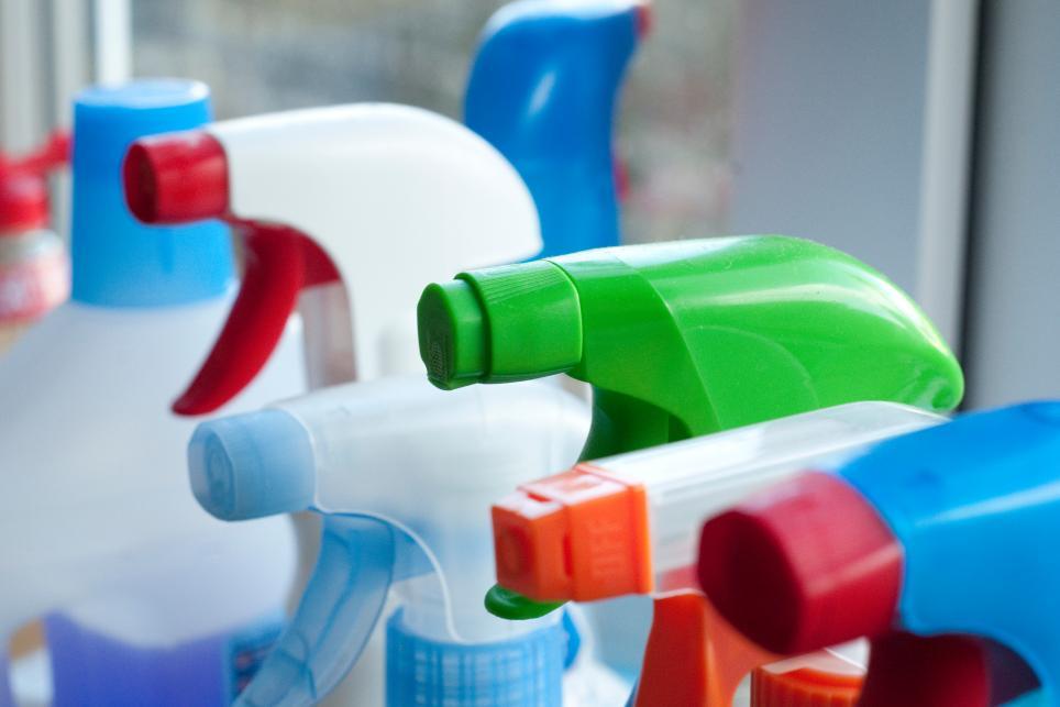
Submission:
MULTIPOLYGON (((140 0, 137 76, 213 89, 219 117, 387 100, 460 118, 476 37, 500 0, 140 0)), ((630 241, 725 230, 736 0, 666 0, 623 92, 630 241)))

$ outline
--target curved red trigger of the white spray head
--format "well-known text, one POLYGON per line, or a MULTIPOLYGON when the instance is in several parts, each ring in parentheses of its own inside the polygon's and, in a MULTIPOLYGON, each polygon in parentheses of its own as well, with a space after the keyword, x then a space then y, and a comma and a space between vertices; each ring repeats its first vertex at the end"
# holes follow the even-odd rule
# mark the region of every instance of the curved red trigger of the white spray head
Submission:
POLYGON ((206 363, 174 404, 177 415, 212 412, 261 372, 287 327, 302 288, 339 279, 328 255, 294 229, 240 222, 243 283, 206 363))

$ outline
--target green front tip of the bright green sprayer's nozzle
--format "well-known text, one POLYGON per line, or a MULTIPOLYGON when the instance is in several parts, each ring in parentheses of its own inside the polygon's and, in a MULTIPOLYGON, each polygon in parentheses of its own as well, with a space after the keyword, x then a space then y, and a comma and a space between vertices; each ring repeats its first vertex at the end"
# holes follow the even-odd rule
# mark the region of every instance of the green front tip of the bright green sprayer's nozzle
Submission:
POLYGON ((485 314, 464 280, 429 285, 417 306, 420 357, 439 388, 478 382, 486 373, 485 314))

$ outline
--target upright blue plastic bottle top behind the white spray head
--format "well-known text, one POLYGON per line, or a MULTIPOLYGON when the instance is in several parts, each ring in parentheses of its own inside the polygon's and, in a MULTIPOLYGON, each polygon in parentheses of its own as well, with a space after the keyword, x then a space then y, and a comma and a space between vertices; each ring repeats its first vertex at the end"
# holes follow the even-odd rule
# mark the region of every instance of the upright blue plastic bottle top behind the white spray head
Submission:
POLYGON ((523 0, 479 37, 464 120, 526 180, 542 256, 618 245, 616 104, 648 18, 630 0, 523 0))

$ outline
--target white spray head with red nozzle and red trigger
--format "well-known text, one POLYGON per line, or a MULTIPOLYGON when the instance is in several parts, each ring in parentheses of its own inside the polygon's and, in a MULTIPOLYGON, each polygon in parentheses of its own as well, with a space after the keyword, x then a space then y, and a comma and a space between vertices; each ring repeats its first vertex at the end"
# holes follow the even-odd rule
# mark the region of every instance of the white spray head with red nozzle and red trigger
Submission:
POLYGON ((340 278, 346 288, 343 318, 352 329, 332 334, 344 341, 324 342, 321 355, 355 368, 346 364, 345 375, 323 374, 322 382, 372 379, 412 368, 400 352, 415 352, 411 318, 424 280, 540 248, 533 202, 511 166, 467 129, 427 111, 365 103, 228 121, 206 132, 223 148, 227 175, 211 176, 211 198, 153 189, 190 179, 206 169, 203 159, 209 174, 220 172, 201 135, 144 141, 126 170, 126 192, 142 216, 172 222, 230 214, 252 234, 246 299, 181 396, 181 413, 216 409, 253 379, 303 288, 340 278), (408 257, 412 252, 417 257, 408 257))

